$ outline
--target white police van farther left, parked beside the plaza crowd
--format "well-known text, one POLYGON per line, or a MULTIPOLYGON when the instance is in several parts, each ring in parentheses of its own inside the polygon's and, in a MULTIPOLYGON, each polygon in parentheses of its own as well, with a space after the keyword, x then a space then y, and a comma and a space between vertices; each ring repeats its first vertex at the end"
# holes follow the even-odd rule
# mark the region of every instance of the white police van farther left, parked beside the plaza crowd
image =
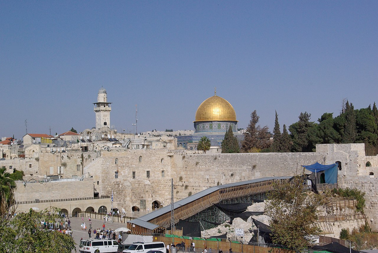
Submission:
POLYGON ((79 251, 90 253, 117 252, 118 245, 118 242, 115 240, 81 240, 79 245, 79 251))

